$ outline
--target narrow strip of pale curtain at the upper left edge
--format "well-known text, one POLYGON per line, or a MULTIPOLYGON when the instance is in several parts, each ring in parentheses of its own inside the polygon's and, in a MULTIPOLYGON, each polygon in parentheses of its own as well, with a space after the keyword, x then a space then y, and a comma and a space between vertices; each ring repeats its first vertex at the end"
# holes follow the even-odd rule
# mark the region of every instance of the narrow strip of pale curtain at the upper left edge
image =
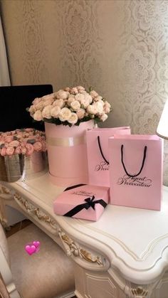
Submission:
POLYGON ((0 16, 0 86, 9 86, 9 68, 8 61, 6 57, 6 46, 4 41, 4 33, 1 25, 1 16, 0 16))

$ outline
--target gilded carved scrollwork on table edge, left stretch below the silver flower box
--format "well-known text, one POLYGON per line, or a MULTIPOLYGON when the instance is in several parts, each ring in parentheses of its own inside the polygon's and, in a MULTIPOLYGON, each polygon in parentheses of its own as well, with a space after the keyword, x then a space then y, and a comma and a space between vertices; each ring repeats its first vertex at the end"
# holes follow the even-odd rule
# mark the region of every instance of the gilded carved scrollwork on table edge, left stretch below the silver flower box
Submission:
POLYGON ((40 208, 33 206, 32 203, 29 203, 27 200, 23 199, 19 193, 14 193, 14 199, 19 201, 21 205, 24 206, 27 213, 33 213, 36 215, 38 220, 44 221, 51 225, 51 227, 55 230, 58 230, 58 225, 55 220, 51 219, 49 215, 46 215, 40 208))

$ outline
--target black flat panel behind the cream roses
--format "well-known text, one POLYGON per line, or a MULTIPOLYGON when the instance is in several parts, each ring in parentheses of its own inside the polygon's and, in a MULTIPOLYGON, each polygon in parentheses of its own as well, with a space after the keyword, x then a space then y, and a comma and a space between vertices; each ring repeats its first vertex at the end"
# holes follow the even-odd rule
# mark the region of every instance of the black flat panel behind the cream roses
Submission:
POLYGON ((36 97, 51 94, 52 85, 21 85, 0 87, 0 132, 14 129, 36 128, 44 130, 43 122, 34 122, 26 107, 36 97))

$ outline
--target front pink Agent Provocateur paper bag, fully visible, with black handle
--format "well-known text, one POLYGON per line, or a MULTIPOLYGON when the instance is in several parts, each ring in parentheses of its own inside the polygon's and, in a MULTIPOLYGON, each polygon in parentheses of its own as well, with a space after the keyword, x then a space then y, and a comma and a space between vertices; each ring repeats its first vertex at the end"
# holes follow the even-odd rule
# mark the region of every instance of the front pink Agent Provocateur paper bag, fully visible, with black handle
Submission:
POLYGON ((162 144, 156 135, 109 139, 111 204, 160 210, 162 144))

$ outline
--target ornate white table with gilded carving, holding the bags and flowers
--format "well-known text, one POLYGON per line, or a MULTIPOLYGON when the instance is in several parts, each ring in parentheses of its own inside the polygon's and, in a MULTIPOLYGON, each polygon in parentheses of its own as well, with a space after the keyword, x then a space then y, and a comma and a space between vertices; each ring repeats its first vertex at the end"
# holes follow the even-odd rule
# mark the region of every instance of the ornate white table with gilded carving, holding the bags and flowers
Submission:
POLYGON ((162 211, 109 205, 97 222, 54 214, 53 201, 62 191, 48 174, 1 182, 1 222, 8 225, 11 206, 61 245, 75 262, 78 298, 167 298, 168 189, 162 211))

